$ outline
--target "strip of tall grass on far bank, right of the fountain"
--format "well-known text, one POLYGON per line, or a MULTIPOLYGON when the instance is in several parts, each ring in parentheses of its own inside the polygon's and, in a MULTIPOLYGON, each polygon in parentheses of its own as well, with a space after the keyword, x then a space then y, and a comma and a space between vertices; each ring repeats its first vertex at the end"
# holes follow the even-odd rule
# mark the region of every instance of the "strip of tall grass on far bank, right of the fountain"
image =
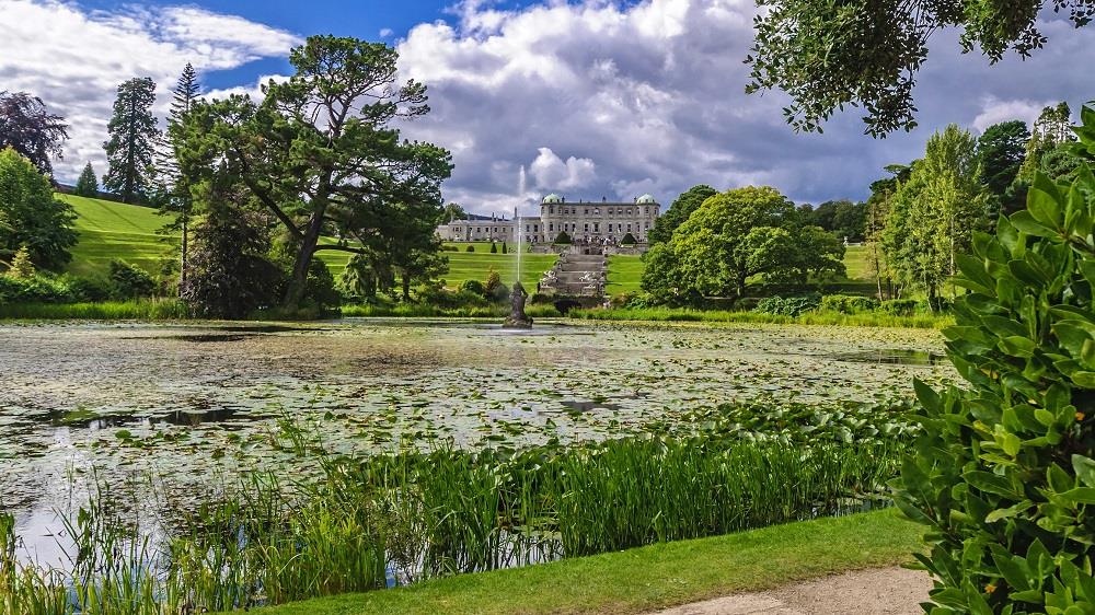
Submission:
POLYGON ((898 316, 879 312, 841 314, 838 312, 807 312, 799 316, 735 312, 729 310, 690 310, 671 308, 619 308, 611 310, 572 310, 572 318, 588 321, 654 321, 696 323, 760 323, 780 325, 841 325, 860 327, 909 327, 941 329, 954 324, 954 317, 944 315, 898 316))

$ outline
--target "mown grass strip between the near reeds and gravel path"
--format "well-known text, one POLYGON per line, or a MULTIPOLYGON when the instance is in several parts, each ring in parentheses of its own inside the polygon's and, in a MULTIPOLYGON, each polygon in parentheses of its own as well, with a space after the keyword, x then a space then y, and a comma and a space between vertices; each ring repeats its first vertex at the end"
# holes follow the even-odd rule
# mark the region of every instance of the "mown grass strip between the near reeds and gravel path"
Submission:
POLYGON ((921 526, 894 510, 664 543, 270 608, 263 615, 643 613, 910 561, 921 526))

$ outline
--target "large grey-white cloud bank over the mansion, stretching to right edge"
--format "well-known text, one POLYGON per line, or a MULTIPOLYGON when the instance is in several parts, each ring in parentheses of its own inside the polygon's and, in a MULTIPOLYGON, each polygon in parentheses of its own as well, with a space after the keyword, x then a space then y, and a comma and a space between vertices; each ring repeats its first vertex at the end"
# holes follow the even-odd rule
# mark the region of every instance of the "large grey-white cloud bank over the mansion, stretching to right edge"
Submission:
POLYGON ((453 151, 446 196, 477 212, 534 200, 518 194, 521 165, 539 194, 574 199, 649 192, 668 204, 698 183, 771 184, 810 202, 864 198, 885 165, 923 155, 948 123, 980 131, 1030 120, 1046 101, 1077 108, 1092 91, 1075 67, 1095 60, 1091 32, 1060 22, 1044 25, 1049 43, 1033 59, 994 67, 959 54, 954 32, 936 33, 915 91, 918 129, 872 139, 852 108, 822 135, 798 135, 783 93, 744 93, 749 0, 468 1, 453 14, 399 43, 402 74, 428 85, 431 107, 404 130, 453 151))

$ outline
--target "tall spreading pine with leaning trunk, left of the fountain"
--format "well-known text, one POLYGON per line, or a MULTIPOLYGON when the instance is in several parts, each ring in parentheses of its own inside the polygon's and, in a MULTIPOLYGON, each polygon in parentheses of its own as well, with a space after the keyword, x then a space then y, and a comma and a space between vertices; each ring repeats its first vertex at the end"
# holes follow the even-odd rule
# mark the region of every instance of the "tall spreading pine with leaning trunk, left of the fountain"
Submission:
POLYGON ((289 234, 295 250, 285 306, 296 310, 320 251, 369 254, 389 210, 428 204, 436 223, 450 154, 400 140, 395 120, 420 117, 426 89, 395 83, 397 53, 381 43, 312 36, 290 54, 295 74, 246 96, 198 103, 180 158, 209 152, 289 234), (338 237, 320 244, 324 234, 338 237))

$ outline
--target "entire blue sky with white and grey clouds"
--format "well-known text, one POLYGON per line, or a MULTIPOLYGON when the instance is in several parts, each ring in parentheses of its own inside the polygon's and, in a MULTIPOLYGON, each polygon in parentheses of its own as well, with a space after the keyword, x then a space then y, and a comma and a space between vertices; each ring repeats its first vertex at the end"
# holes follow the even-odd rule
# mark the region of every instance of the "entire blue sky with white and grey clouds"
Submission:
POLYGON ((823 134, 796 134, 784 94, 744 92, 753 14, 751 0, 0 0, 0 91, 31 92, 67 118, 55 170, 73 182, 88 162, 105 172, 111 106, 129 78, 158 83, 162 118, 187 61, 209 97, 258 95, 289 74, 288 51, 308 35, 383 40, 400 51, 400 79, 428 88, 430 114, 403 135, 451 151, 445 198, 485 214, 531 213, 550 192, 668 205, 695 184, 862 199, 948 123, 978 134, 1095 98, 1080 68, 1095 63, 1095 26, 1048 13, 1047 46, 1027 60, 990 66, 960 54, 956 32, 936 33, 912 132, 867 137, 850 109, 823 134))

